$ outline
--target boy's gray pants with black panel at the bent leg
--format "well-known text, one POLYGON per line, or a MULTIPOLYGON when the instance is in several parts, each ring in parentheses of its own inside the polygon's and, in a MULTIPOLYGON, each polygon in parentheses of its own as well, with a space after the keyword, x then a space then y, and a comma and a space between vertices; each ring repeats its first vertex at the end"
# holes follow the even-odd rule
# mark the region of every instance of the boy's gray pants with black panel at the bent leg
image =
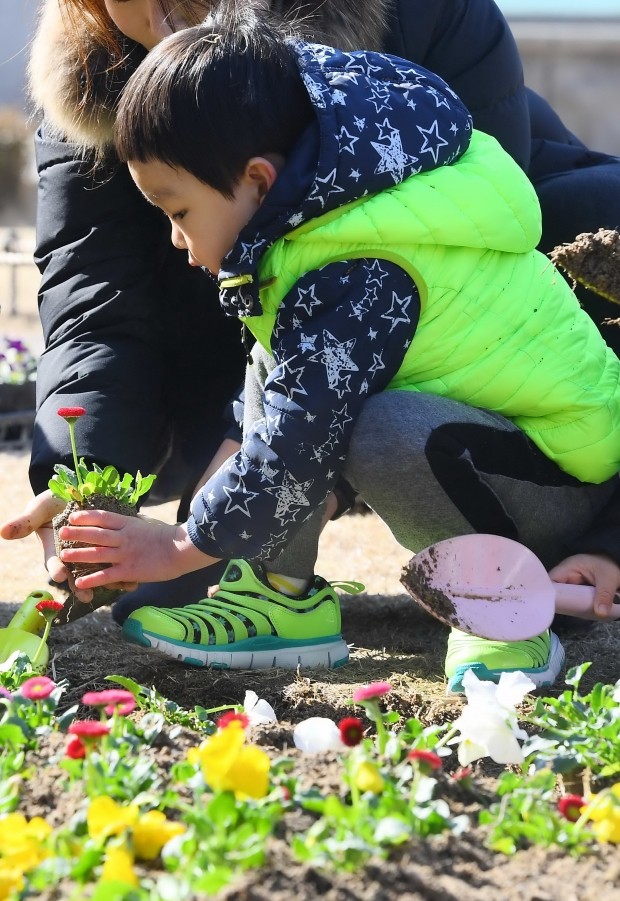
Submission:
MULTIPOLYGON (((245 389, 246 427, 263 418, 272 358, 256 345, 245 389)), ((547 568, 592 523, 616 479, 602 485, 562 472, 497 413, 415 391, 370 397, 357 420, 342 475, 412 552, 473 532, 529 547, 547 568)), ((269 569, 314 573, 323 508, 269 569)))

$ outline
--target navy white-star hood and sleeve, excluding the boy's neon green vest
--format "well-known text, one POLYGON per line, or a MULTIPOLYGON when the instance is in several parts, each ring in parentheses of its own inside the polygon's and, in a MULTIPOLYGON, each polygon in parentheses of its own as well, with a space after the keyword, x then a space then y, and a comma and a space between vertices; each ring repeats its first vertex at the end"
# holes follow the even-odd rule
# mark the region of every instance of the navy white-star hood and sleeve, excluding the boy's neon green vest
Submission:
MULTIPOLYGON (((220 300, 242 318, 261 312, 257 282, 243 283, 244 274, 257 273, 274 241, 317 215, 337 215, 343 204, 450 164, 471 138, 468 111, 427 70, 384 54, 295 46, 317 122, 224 261, 220 300), (334 104, 337 131, 326 120, 334 104)), ((265 386, 265 417, 192 503, 188 527, 197 547, 215 557, 277 553, 332 489, 359 411, 397 372, 418 311, 412 279, 385 260, 337 260, 300 279, 274 329, 277 365, 265 386), (329 308, 321 316, 324 341, 301 334, 302 357, 314 364, 304 368, 287 334, 322 305, 329 308)))

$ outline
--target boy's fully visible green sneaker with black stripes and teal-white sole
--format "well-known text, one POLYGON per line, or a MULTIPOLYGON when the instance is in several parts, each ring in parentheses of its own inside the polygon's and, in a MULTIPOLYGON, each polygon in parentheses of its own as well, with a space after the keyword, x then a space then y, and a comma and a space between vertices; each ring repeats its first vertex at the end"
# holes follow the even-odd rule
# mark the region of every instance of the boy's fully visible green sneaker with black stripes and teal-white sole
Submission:
MULTIPOLYGON (((337 583, 356 592, 358 583, 337 583)), ((190 666, 297 669, 343 666, 349 648, 340 633, 340 602, 315 576, 308 592, 275 591, 260 564, 232 560, 217 594, 185 607, 142 607, 127 617, 123 638, 190 666)))

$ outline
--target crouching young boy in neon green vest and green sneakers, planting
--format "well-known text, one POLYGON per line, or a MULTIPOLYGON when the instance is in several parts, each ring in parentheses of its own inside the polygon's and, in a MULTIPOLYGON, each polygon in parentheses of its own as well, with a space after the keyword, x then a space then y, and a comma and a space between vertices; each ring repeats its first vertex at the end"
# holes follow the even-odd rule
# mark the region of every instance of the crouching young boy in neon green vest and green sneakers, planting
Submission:
MULTIPOLYGON (((111 564, 80 589, 235 558, 213 598, 138 610, 126 638, 199 666, 346 662, 338 598, 312 575, 339 478, 412 551, 467 532, 548 566, 577 542, 614 547, 592 527, 615 503, 620 363, 534 250, 529 181, 440 78, 287 41, 246 11, 153 50, 115 137, 173 243, 256 338, 242 448, 187 523, 84 511, 63 530, 93 545, 63 560, 111 564)), ((584 559, 596 568, 569 562, 567 581, 587 579, 584 559)), ((549 632, 453 631, 446 673, 453 691, 471 667, 544 685, 563 660, 549 632)))

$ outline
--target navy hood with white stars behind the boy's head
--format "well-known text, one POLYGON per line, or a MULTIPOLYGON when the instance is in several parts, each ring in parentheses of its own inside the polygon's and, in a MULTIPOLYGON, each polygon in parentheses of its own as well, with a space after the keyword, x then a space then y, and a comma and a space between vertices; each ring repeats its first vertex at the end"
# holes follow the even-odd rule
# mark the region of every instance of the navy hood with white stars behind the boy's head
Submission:
MULTIPOLYGON (((259 257, 282 234, 448 165, 471 140, 468 110, 438 75, 383 53, 292 44, 316 123, 241 232, 220 281, 255 272, 259 257)), ((243 315, 244 309, 230 312, 243 315)))

